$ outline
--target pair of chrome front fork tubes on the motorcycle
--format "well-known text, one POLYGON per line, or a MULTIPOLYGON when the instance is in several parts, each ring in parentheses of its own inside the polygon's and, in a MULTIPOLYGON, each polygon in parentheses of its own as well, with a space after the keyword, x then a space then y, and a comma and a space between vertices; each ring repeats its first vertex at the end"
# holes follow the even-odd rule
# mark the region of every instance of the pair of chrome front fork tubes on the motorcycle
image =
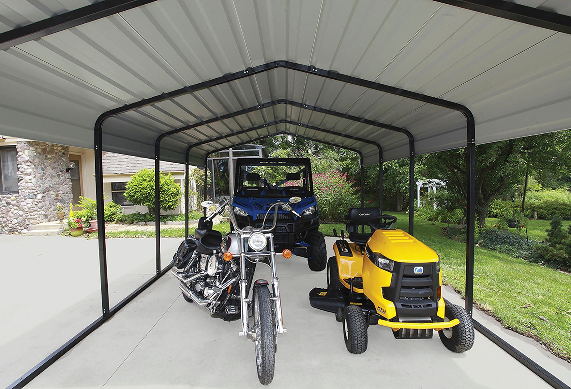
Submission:
MULTIPOLYGON (((274 237, 269 236, 270 247, 274 247, 274 237)), ((240 250, 243 251, 243 250, 240 250)), ((276 254, 272 250, 270 254, 270 267, 272 269, 272 303, 274 303, 274 318, 276 333, 283 334, 287 332, 287 328, 283 326, 283 316, 282 316, 282 301, 280 300, 280 288, 279 288, 279 278, 278 271, 276 269, 276 254)), ((254 295, 254 288, 252 287, 252 295, 254 295)), ((248 328, 248 315, 250 312, 250 306, 252 304, 252 299, 248 298, 248 281, 246 278, 246 254, 240 252, 240 302, 242 305, 242 331, 239 335, 246 336, 246 338, 252 337, 251 328, 248 328)))

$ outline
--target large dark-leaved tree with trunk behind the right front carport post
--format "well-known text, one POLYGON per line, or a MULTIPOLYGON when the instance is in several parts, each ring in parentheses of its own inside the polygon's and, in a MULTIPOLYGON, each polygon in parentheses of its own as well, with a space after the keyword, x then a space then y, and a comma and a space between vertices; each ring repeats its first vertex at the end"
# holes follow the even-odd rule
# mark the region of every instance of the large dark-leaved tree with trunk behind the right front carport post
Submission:
MULTIPOLYGON (((568 174, 571 166, 571 132, 536 135, 476 147, 476 215, 484 227, 492 200, 511 193, 530 174, 568 174)), ((423 157, 425 172, 443 179, 458 206, 465 209, 467 170, 465 149, 441 151, 423 157)), ((426 174, 426 173, 425 173, 426 174)))

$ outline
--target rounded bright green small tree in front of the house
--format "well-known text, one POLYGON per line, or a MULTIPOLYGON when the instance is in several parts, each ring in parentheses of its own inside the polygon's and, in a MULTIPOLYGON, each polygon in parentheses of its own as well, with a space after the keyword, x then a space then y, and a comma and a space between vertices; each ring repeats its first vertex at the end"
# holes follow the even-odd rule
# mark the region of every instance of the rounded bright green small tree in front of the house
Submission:
MULTIPOLYGON (((172 175, 159 174, 160 208, 164 211, 178 207, 182 191, 172 175)), ((148 212, 155 212, 155 169, 139 170, 127 182, 125 198, 136 205, 143 205, 148 212)))

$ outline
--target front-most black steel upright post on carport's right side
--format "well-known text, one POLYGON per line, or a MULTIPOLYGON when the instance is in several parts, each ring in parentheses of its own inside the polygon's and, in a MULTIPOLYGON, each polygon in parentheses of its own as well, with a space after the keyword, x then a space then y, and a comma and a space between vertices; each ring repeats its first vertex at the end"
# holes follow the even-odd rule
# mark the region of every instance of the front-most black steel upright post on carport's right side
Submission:
POLYGON ((472 316, 474 300, 474 235, 476 233, 476 122, 472 113, 463 112, 467 124, 466 163, 468 172, 467 217, 466 217, 466 286, 465 307, 472 316))

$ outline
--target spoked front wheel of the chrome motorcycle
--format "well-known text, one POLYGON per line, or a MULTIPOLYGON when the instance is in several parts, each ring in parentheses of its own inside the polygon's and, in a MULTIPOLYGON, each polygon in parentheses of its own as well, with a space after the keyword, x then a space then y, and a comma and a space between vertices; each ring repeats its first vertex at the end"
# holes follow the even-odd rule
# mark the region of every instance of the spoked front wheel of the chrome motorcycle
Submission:
POLYGON ((267 286, 254 288, 254 306, 252 309, 256 348, 256 367, 258 379, 267 385, 274 379, 275 365, 275 331, 274 311, 270 291, 267 286))

